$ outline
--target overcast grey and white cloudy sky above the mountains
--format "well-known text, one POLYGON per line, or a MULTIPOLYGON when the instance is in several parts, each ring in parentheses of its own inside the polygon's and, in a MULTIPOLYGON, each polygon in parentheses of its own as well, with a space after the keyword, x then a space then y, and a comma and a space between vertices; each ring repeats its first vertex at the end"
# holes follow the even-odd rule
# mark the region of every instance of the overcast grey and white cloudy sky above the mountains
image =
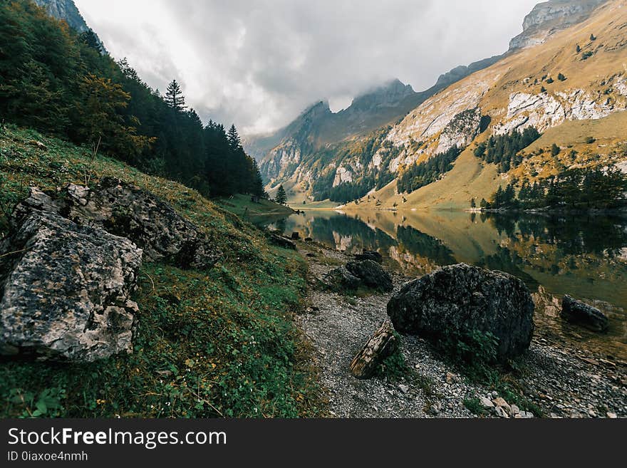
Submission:
POLYGON ((244 134, 333 110, 390 78, 429 88, 507 50, 538 0, 75 0, 153 88, 176 78, 204 120, 244 134))

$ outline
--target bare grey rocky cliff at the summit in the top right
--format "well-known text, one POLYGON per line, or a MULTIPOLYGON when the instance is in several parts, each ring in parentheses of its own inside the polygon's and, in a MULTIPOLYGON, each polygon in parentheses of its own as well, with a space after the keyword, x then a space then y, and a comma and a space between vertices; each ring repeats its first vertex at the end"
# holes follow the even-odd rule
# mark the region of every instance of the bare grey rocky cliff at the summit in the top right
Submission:
POLYGON ((544 43, 549 36, 589 17, 600 4, 607 0, 550 0, 537 4, 525 16, 523 32, 512 39, 509 50, 536 46, 544 43))

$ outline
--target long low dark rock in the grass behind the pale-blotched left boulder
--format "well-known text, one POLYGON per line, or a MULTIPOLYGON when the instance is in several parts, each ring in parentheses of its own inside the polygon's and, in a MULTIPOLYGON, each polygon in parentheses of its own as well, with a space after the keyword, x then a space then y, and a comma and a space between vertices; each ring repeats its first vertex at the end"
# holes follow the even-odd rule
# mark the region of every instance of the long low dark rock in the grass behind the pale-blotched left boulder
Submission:
POLYGON ((182 268, 207 269, 219 259, 204 232, 154 194, 105 177, 94 188, 70 184, 51 199, 38 189, 16 209, 14 218, 33 209, 61 214, 78 224, 127 237, 144 251, 144 261, 166 261, 182 268))

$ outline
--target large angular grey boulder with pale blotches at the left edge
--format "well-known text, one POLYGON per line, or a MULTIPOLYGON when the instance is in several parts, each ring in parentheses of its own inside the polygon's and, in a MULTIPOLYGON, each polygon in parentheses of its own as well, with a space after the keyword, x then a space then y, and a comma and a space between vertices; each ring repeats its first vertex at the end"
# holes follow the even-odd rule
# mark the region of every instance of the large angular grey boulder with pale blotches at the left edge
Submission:
POLYGON ((35 194, 41 210, 22 206, 0 242, 0 353, 73 361, 130 353, 141 249, 51 212, 35 194))

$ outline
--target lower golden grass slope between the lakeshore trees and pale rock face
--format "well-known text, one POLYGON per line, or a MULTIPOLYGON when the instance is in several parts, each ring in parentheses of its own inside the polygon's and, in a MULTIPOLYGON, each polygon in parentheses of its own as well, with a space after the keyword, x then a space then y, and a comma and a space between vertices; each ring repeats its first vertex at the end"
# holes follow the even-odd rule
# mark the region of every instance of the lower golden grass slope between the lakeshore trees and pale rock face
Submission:
MULTIPOLYGON (((506 174, 499 174, 496 165, 475 157, 472 153, 475 145, 471 145, 441 180, 411 194, 397 194, 396 182, 391 182, 372 194, 370 199, 363 197, 359 204, 348 204, 346 209, 467 209, 470 199, 489 199, 499 185, 507 184, 512 178, 533 181, 556 175, 564 167, 595 167, 627 160, 626 128, 627 112, 598 120, 568 120, 550 128, 525 148, 524 163, 506 174), (553 143, 561 147, 556 157, 550 152, 553 143)), ((477 142, 481 140, 479 138, 477 142)))

